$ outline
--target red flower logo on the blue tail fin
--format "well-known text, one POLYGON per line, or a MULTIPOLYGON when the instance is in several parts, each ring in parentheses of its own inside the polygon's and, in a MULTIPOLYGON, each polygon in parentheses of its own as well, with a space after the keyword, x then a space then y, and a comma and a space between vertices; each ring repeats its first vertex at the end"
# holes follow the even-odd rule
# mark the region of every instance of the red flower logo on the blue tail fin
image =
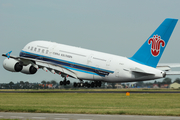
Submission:
POLYGON ((152 38, 148 40, 148 44, 151 44, 151 54, 154 57, 157 57, 160 53, 160 46, 164 47, 165 42, 161 39, 161 36, 154 35, 152 38))

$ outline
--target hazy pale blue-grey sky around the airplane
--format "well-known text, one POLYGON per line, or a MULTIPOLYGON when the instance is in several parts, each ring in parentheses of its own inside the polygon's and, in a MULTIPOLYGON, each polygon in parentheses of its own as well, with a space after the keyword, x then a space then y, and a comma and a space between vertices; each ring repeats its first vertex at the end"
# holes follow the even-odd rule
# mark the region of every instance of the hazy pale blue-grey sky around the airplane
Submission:
MULTIPOLYGON (((27 43, 47 40, 131 57, 165 18, 180 19, 179 5, 179 0, 0 0, 0 53, 19 56, 27 43)), ((177 23, 160 63, 180 63, 179 33, 177 23)), ((43 70, 12 73, 2 64, 0 83, 63 80, 43 70)))

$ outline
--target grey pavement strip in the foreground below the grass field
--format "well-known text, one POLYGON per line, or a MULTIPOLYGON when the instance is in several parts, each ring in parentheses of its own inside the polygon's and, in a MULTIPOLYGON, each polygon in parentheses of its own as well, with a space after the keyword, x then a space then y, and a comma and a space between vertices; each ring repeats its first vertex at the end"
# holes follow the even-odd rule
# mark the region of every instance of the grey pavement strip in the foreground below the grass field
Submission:
POLYGON ((98 114, 57 114, 57 113, 13 113, 0 112, 0 119, 21 120, 179 120, 175 116, 141 115, 98 115, 98 114))

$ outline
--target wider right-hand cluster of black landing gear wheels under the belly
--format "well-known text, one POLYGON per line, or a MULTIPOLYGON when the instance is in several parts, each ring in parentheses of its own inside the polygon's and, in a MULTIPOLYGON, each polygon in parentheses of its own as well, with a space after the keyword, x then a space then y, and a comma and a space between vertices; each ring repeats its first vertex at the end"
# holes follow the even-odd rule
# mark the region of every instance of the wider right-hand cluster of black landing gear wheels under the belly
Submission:
POLYGON ((94 88, 94 87, 101 87, 101 81, 94 81, 94 82, 85 82, 80 81, 79 83, 74 82, 74 87, 87 87, 87 88, 94 88))

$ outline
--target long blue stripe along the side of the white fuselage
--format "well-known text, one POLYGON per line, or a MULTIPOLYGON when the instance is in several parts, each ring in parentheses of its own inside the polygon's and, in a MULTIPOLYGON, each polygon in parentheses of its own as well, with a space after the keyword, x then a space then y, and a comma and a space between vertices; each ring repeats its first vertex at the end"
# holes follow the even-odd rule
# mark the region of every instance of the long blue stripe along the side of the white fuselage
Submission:
POLYGON ((70 61, 65 61, 65 60, 52 58, 52 57, 48 57, 48 56, 43 56, 43 55, 39 55, 39 54, 34 54, 34 53, 26 52, 23 50, 20 52, 20 56, 43 60, 43 61, 49 62, 51 64, 54 64, 54 65, 62 65, 63 67, 68 67, 68 69, 71 69, 71 70, 76 70, 76 71, 94 74, 94 75, 105 76, 105 75, 108 75, 109 73, 114 73, 113 71, 96 68, 96 67, 92 67, 92 66, 87 66, 87 65, 83 65, 83 64, 79 64, 79 63, 74 63, 74 62, 70 62, 70 61))

